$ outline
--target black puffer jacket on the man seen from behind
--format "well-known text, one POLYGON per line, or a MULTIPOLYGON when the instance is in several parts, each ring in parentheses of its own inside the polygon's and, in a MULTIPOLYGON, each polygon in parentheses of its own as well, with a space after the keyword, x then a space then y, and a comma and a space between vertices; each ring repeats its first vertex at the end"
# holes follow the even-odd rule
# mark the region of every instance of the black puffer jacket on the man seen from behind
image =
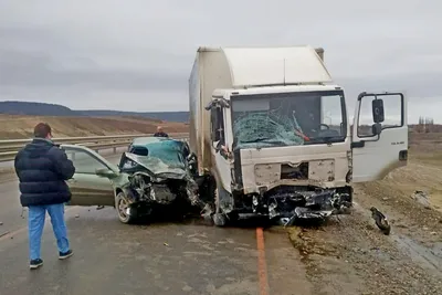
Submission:
POLYGON ((64 150, 52 141, 35 138, 17 154, 14 166, 23 207, 71 200, 65 180, 73 177, 75 167, 64 150))

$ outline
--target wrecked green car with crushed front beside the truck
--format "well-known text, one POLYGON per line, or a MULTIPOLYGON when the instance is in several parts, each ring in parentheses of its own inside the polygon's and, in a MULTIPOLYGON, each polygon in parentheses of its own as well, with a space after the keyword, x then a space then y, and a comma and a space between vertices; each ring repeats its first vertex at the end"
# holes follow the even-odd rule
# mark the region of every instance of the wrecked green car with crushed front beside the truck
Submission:
POLYGON ((62 145, 75 166, 67 181, 70 206, 112 206, 123 223, 150 215, 158 208, 204 208, 194 181, 194 155, 183 140, 159 137, 134 139, 113 165, 92 149, 62 145))

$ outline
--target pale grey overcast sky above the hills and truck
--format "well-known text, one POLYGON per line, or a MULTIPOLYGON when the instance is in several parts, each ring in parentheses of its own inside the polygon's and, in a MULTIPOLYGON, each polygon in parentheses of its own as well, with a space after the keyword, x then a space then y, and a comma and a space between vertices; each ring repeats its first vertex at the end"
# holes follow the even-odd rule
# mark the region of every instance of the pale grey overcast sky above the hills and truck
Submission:
POLYGON ((187 110, 199 45, 311 44, 350 107, 362 91, 406 91, 411 122, 442 123, 441 11, 436 0, 0 0, 0 99, 187 110))

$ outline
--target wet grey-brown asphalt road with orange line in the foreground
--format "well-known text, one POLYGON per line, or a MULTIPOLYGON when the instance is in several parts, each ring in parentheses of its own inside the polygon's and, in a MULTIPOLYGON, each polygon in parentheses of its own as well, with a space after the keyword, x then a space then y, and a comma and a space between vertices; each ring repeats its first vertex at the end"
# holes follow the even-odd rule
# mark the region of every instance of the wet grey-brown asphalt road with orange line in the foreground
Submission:
MULTIPOLYGON (((114 161, 119 159, 112 158, 114 161)), ((113 208, 66 208, 74 255, 57 260, 49 219, 43 267, 29 270, 18 182, 0 185, 0 294, 309 294, 286 232, 199 220, 122 224, 113 208)))

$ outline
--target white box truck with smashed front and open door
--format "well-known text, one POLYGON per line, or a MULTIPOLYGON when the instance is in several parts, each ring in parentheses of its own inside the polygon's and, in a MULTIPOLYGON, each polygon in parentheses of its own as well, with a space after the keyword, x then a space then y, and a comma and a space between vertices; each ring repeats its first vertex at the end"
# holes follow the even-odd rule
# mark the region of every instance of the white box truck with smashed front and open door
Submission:
POLYGON ((352 122, 346 98, 320 48, 199 48, 189 146, 204 214, 217 225, 339 214, 351 207, 352 183, 406 166, 404 95, 348 97, 352 122))

